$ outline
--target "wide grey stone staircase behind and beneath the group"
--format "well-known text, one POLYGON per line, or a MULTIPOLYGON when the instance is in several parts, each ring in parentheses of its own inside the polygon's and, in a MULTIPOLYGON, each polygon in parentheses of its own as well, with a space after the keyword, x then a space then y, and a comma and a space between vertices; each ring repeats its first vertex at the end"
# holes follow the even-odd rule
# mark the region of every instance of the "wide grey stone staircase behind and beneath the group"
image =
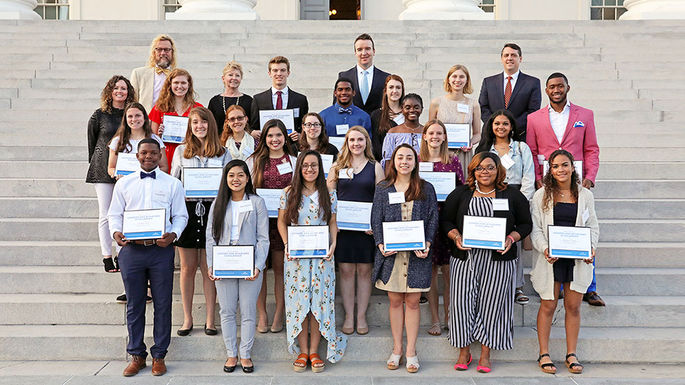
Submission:
MULTIPOLYGON (((571 101, 595 110, 597 281, 607 306, 583 304, 579 356, 684 362, 685 133, 678 122, 685 72, 673 52, 685 48, 685 25, 675 21, 0 21, 0 360, 125 359, 125 308, 114 303, 123 284, 101 267, 97 200, 84 183, 86 122, 105 81, 144 65, 149 42, 162 32, 175 38, 179 66, 190 70, 201 103, 221 92, 225 62, 242 63, 241 90, 255 94, 270 85, 268 60, 285 55, 289 84, 308 96, 312 111, 329 105, 336 75, 353 66, 352 42, 362 32, 375 40, 377 66, 401 75, 426 105, 443 94, 446 71, 456 63, 469 68, 477 97, 483 77, 501 71, 501 46, 517 42, 524 72, 543 81, 564 72, 571 101)), ((530 255, 524 261, 530 267, 530 255)), ((201 323, 197 278, 194 317, 201 323)), ((530 285, 526 292, 534 293, 530 285)), ((177 282, 175 293, 176 326, 182 322, 177 282)), ((532 297, 515 307, 514 350, 498 351, 493 360, 536 358, 538 303, 532 297)), ((444 334, 426 333, 429 312, 421 310, 421 360, 453 360, 456 349, 444 334)), ((558 311, 551 351, 561 356, 564 310, 558 311)), ((338 301, 340 321, 342 315, 338 301)), ((387 358, 392 339, 382 292, 374 291, 368 318, 371 332, 349 336, 345 360, 387 358)), ((259 334, 253 356, 292 359, 284 337, 259 334)), ((223 340, 174 335, 169 358, 223 360, 223 340)))

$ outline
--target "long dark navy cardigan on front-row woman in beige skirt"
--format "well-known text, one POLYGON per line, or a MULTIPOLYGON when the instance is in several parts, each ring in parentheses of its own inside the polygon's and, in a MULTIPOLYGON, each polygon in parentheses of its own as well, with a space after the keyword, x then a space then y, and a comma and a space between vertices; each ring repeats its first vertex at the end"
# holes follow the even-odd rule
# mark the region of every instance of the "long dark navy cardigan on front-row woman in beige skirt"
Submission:
MULTIPOLYGON (((388 186, 387 183, 381 182, 376 186, 373 207, 371 207, 371 228, 376 246, 383 243, 383 222, 399 222, 402 220, 400 205, 388 202, 388 193, 393 192, 397 192, 395 185, 388 186)), ((423 194, 425 194, 425 199, 414 200, 412 220, 423 220, 425 239, 432 242, 435 239, 436 230, 438 230, 438 198, 433 185, 428 182, 423 183, 423 194)), ((414 253, 410 254, 409 265, 407 266, 407 284, 409 287, 414 289, 430 287, 433 248, 434 245, 431 245, 427 258, 419 258, 414 253)), ((384 283, 388 283, 390 274, 393 273, 393 266, 395 266, 395 255, 383 256, 376 247, 371 282, 382 280, 384 283)))

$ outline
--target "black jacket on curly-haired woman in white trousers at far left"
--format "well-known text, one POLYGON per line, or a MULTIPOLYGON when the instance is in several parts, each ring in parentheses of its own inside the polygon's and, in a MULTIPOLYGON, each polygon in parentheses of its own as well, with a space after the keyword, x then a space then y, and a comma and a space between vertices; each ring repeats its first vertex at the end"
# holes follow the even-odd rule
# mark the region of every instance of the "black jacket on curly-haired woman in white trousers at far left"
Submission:
POLYGON ((110 161, 108 144, 119 129, 124 116, 123 109, 112 108, 112 114, 96 109, 88 120, 88 174, 86 183, 114 183, 107 172, 110 161))

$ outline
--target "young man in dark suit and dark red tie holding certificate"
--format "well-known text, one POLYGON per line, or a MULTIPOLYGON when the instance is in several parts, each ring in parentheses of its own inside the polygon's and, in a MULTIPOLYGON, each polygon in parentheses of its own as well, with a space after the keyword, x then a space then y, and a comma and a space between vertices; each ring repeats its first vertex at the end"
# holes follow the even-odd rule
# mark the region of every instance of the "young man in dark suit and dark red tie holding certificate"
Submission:
POLYGON ((295 118, 295 131, 292 131, 288 136, 293 142, 297 142, 299 139, 299 132, 302 131, 302 116, 309 112, 309 103, 307 96, 288 88, 288 76, 290 76, 290 62, 287 57, 276 56, 269 60, 271 88, 252 97, 250 135, 253 137, 259 139, 262 129, 259 111, 292 109, 292 115, 295 118))

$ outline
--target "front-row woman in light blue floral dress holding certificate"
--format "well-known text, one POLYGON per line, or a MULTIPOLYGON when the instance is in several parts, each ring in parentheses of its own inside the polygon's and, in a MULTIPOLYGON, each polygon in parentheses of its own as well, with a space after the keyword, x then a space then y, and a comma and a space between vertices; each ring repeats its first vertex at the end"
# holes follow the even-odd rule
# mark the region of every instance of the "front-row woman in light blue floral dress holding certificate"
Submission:
POLYGON ((336 332, 333 253, 338 198, 336 191, 326 186, 321 164, 318 152, 301 152, 292 185, 283 190, 278 209, 278 231, 286 245, 290 242, 285 263, 286 325, 288 350, 301 352, 292 364, 297 372, 306 371, 307 362, 314 373, 323 371, 325 363, 316 353, 321 336, 327 340, 330 362, 343 358, 347 345, 347 338, 336 332))

